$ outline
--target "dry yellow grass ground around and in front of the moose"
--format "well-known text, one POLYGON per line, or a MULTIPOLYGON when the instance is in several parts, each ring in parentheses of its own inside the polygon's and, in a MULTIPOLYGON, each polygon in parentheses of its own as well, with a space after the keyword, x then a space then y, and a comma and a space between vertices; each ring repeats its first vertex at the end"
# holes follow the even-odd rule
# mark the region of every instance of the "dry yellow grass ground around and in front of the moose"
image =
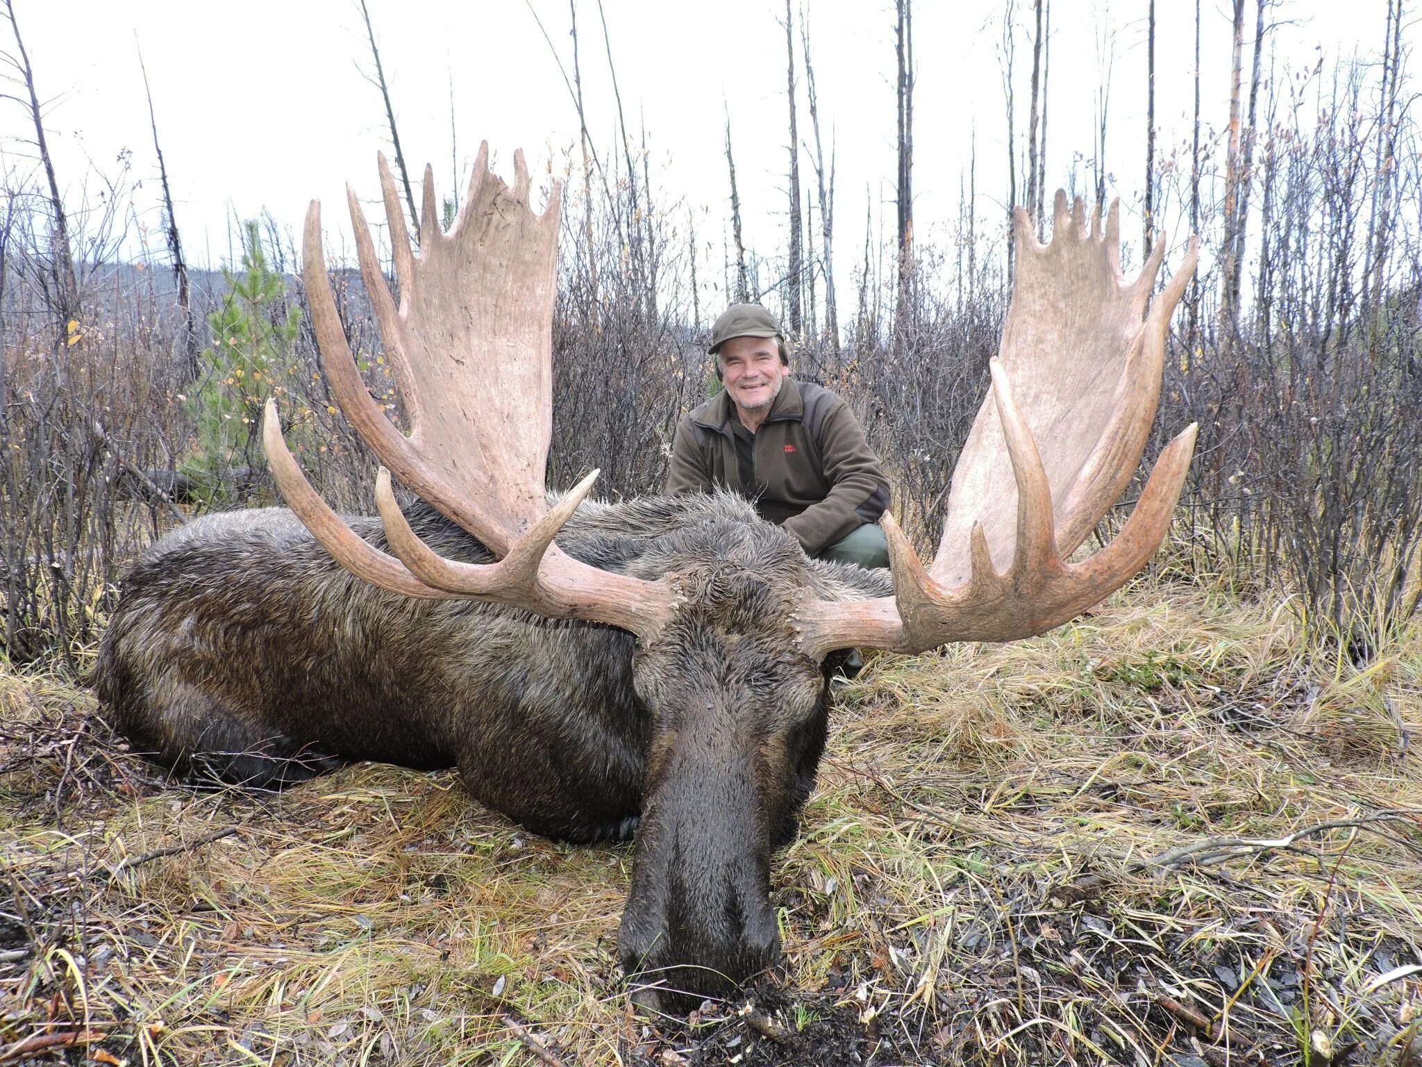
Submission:
POLYGON ((175 788, 87 693, 4 673, 0 1061, 1418 1063, 1422 633, 1301 647, 1156 578, 873 659, 772 868, 786 966, 690 1027, 619 984, 630 848, 448 774, 175 788))

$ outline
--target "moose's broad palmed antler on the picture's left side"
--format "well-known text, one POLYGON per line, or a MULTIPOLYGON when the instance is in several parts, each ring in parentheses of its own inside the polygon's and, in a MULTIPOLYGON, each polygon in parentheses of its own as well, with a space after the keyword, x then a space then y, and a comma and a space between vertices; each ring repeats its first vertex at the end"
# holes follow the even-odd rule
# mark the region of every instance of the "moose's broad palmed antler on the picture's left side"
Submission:
POLYGON ((485 142, 448 233, 439 229, 434 175, 425 168, 417 256, 390 166, 380 156, 398 307, 360 201, 347 186, 361 277, 405 401, 410 437, 385 418, 356 368, 326 275, 320 203, 313 201, 306 213, 303 277, 311 324, 336 403, 384 464, 375 501, 395 556, 354 534, 310 487, 282 438, 270 400, 263 445, 292 511, 360 578, 408 596, 493 600, 609 623, 646 639, 671 610, 674 595, 665 582, 600 570, 553 543, 597 471, 552 511, 545 504, 560 186, 555 182, 547 209, 536 215, 529 206, 523 154, 513 156, 512 189, 489 171, 488 158, 485 142), (499 562, 464 563, 432 552, 395 504, 391 471, 499 562))

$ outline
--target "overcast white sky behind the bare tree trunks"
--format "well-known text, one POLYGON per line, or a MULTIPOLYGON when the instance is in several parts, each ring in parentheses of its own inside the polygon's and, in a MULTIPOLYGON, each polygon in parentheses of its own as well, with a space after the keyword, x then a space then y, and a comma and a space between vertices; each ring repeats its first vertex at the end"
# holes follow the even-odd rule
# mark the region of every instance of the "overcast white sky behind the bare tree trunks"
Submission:
MULTIPOLYGON (((458 165, 466 175, 481 138, 508 174, 522 147, 538 172, 562 168, 576 144, 576 115, 547 43, 519 0, 368 0, 391 83, 405 155, 415 176, 435 165, 441 193, 451 159, 451 78, 458 165)), ((156 161, 138 70, 142 46, 159 137, 189 256, 228 255, 233 218, 269 211, 297 230, 306 203, 328 206, 326 225, 346 225, 343 184, 377 189, 374 156, 387 141, 380 98, 364 73, 370 50, 356 0, 14 0, 34 63, 65 195, 77 201, 92 169, 114 175, 131 152, 142 179, 135 196, 149 240, 161 248, 156 161)), ((570 57, 569 7, 532 0, 570 57)), ((795 0, 796 10, 799 0, 795 0)), ((1007 120, 1000 41, 1004 0, 929 3, 914 13, 919 67, 914 98, 914 193, 919 232, 957 213, 960 175, 975 132, 980 211, 1005 192, 1007 120)), ((1089 188, 1092 95, 1099 84, 1098 36, 1113 38, 1108 165, 1123 206, 1139 202, 1146 101, 1146 0, 1055 0, 1051 40, 1048 188, 1075 165, 1089 188)), ((1031 4, 1018 0, 1018 137, 1025 131, 1031 74, 1031 4)), ((1253 37, 1253 3, 1249 3, 1253 37)), ((1158 3, 1159 152, 1189 138, 1194 6, 1158 3)), ((722 155, 729 111, 747 240, 778 253, 785 211, 786 101, 782 0, 604 0, 627 121, 644 125, 664 189, 663 203, 708 209, 698 226, 717 242, 707 273, 720 280, 727 206, 722 155)), ((886 0, 808 0, 822 134, 838 145, 836 211, 846 258, 863 245, 866 199, 892 218, 894 174, 893 10, 886 0)), ((1270 13, 1278 74, 1320 55, 1376 57, 1385 0, 1284 0, 1270 13)), ((1203 6, 1203 110, 1216 129, 1227 120, 1230 13, 1203 6)), ((0 27, 0 48, 13 43, 0 27)), ((613 100, 596 0, 580 0, 584 94, 593 135, 613 147, 613 100)), ((1406 38, 1415 40, 1409 26, 1406 38)), ((798 46, 796 46, 798 50, 798 46)), ((1266 51, 1266 70, 1268 68, 1266 51)), ((4 166, 33 168, 28 117, 0 101, 4 166)), ((801 112, 801 137, 809 138, 801 112)), ((546 171, 545 171, 546 172, 546 171)), ((806 188, 809 175, 805 175, 806 188)), ((418 196, 418 191, 417 191, 418 196)), ((1139 226, 1139 223, 1136 223, 1139 226)), ((1133 232, 1128 229, 1128 233, 1133 232)), ((1175 235, 1180 236, 1180 235, 1175 235)), ((842 260, 842 269, 848 263, 842 260)), ((842 282, 843 285, 843 282, 842 282)))

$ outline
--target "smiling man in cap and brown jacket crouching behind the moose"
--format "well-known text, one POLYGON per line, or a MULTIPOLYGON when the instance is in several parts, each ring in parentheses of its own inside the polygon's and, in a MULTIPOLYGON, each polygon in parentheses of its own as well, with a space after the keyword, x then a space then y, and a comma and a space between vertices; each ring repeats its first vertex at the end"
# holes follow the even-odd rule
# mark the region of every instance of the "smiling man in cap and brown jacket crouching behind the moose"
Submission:
POLYGON ((887 566, 889 482, 849 405, 791 377, 781 326, 759 304, 731 304, 710 353, 725 388, 677 427, 667 492, 731 489, 806 555, 887 566))

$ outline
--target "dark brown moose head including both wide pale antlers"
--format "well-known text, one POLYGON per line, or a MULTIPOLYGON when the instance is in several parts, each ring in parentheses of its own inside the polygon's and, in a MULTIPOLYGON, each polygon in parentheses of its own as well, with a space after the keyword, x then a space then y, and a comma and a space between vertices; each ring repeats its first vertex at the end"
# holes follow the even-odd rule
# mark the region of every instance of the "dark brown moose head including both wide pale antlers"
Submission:
MULTIPOLYGON (((408 435, 361 381, 327 280, 319 205, 307 213, 311 320, 337 403, 383 464, 375 498, 390 551, 354 532, 311 489, 273 401, 263 440, 287 504, 365 582, 404 598, 505 605, 634 639, 640 825, 620 953, 629 973, 700 999, 776 957, 769 859, 793 832, 823 747, 826 657, 856 646, 912 654, 1039 635, 1122 586, 1160 546, 1194 427, 1163 448, 1118 536, 1072 559, 1136 472, 1167 323, 1196 246, 1152 299, 1165 242, 1139 277, 1123 280, 1116 205, 1105 223, 1099 208, 1088 221, 1079 199, 1068 206, 1058 192, 1045 245, 1018 209, 1001 350, 930 565, 887 514, 892 575, 870 575, 809 561, 784 531, 721 505, 663 536, 641 531, 646 551, 596 566, 556 538, 567 525, 563 542, 572 545, 580 522, 597 525, 603 505, 583 504, 597 472, 560 498, 543 484, 560 186, 536 213, 522 154, 515 174, 505 185, 481 148, 464 205, 441 232, 427 168, 417 253, 381 159, 398 304, 360 202, 348 195, 408 435), (437 552, 397 505, 391 475, 495 562, 437 552)), ((576 713, 603 714, 599 700, 590 691, 589 707, 576 713)), ((685 1004, 674 996, 660 1003, 685 1004)))

